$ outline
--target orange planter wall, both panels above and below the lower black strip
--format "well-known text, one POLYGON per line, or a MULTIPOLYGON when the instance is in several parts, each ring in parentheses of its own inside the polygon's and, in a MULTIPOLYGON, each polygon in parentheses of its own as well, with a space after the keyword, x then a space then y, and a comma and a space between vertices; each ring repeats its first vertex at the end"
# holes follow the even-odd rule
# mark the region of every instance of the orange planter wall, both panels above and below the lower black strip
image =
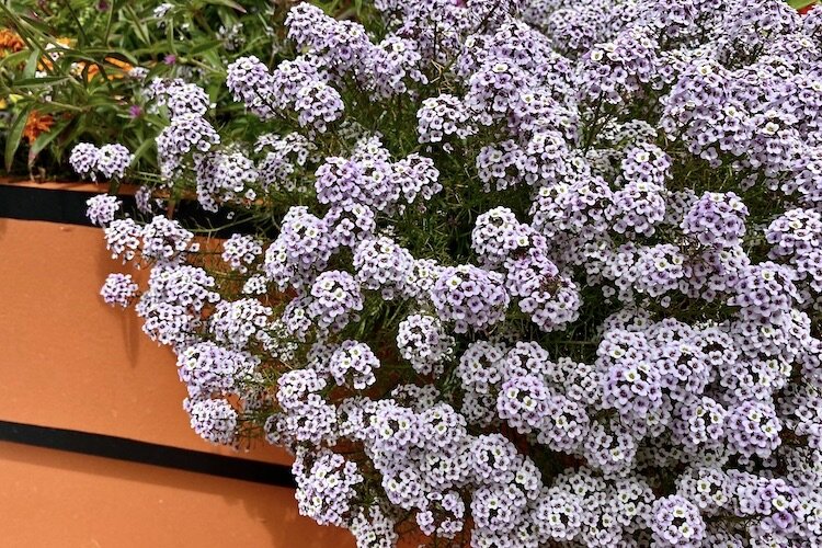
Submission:
MULTIPOLYGON (((0 420, 270 463, 194 434, 173 355, 133 311, 98 297, 112 261, 99 229, 0 219, 0 420)), ((347 547, 297 515, 294 491, 0 443, 3 547, 347 547)))

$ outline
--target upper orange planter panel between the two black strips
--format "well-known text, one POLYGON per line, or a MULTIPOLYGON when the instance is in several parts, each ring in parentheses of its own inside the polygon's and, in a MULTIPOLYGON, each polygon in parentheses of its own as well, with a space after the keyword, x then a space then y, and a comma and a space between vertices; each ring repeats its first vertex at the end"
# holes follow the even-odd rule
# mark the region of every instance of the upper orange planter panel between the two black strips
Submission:
MULTIPOLYGON (((95 228, 0 219, 0 419, 237 455, 182 410, 173 354, 98 292, 112 261, 95 228)), ((145 274, 145 273, 144 273, 145 274)), ((246 455, 288 463, 261 444, 246 455)))

